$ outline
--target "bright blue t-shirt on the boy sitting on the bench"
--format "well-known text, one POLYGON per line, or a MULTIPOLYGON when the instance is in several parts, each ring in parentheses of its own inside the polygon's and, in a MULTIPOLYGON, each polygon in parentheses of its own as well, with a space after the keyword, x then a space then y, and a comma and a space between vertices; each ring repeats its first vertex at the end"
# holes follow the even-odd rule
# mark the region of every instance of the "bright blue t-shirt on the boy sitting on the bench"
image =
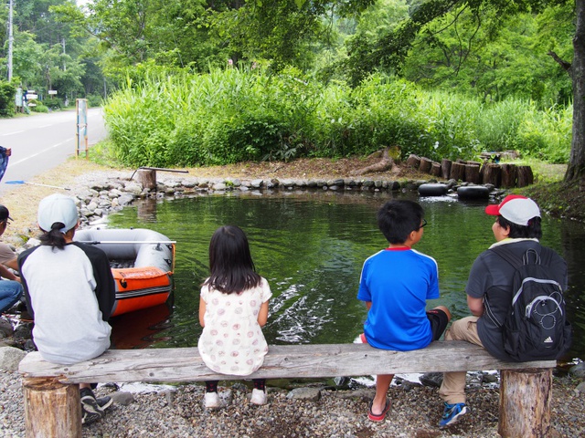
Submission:
POLYGON ((364 333, 377 349, 409 351, 431 343, 426 301, 439 297, 437 262, 408 247, 388 248, 367 258, 357 299, 371 301, 364 333))

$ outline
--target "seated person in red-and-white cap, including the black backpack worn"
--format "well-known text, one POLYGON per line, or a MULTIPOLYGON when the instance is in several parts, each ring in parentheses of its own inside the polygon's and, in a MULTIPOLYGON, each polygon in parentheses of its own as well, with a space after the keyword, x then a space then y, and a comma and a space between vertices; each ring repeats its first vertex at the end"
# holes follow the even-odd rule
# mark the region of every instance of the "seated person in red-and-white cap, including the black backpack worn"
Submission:
MULTIPOLYGON (((475 261, 465 292, 473 317, 452 323, 445 340, 467 340, 500 360, 554 360, 570 345, 563 292, 567 264, 542 246, 540 210, 533 200, 511 194, 488 205, 497 216, 496 243, 475 261)), ((441 390, 444 412, 440 427, 458 422, 468 411, 465 372, 446 372, 441 390)))

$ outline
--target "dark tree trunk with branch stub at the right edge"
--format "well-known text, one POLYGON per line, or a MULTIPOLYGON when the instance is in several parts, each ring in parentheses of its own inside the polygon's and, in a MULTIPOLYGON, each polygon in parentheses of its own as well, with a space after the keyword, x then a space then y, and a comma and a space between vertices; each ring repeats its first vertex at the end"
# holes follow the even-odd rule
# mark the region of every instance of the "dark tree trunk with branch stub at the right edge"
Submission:
POLYGON ((573 37, 573 64, 563 62, 549 52, 565 68, 573 83, 573 138, 570 143, 569 167, 565 181, 585 178, 585 2, 575 2, 575 36, 573 37))

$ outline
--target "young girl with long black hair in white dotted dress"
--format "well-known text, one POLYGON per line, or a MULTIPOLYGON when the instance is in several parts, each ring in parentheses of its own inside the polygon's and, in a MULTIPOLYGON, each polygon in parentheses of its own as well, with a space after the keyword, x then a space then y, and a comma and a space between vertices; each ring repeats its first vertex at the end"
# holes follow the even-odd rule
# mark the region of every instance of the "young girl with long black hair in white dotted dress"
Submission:
MULTIPOLYGON (((248 376, 261 367, 268 352, 261 328, 272 293, 256 273, 248 238, 238 226, 221 226, 211 237, 209 270, 199 299, 199 354, 211 370, 248 376)), ((266 404, 264 379, 253 382, 250 402, 266 404)), ((218 381, 206 381, 205 406, 220 407, 218 381)))

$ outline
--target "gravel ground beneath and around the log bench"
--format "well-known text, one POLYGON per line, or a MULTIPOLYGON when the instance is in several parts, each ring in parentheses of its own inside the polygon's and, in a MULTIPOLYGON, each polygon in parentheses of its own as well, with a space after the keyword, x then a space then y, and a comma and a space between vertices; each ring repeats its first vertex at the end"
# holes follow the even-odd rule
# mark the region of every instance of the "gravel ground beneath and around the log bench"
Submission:
MULTIPOLYGON (((270 384, 270 381, 269 381, 270 384)), ((550 437, 585 436, 585 394, 576 383, 555 379, 550 437)), ((241 382, 221 387, 229 400, 223 409, 206 411, 201 403, 204 388, 185 384, 177 387, 147 387, 133 392, 133 401, 122 404, 128 390, 101 386, 96 394, 112 395, 114 402, 105 418, 83 427, 84 437, 495 437, 497 433, 497 389, 473 386, 468 389, 472 411, 449 430, 436 424, 441 399, 436 388, 406 384, 390 388, 393 407, 386 421, 367 420, 367 404, 373 389, 321 391, 318 401, 293 400, 289 391, 269 388, 269 403, 251 405, 250 388, 241 382), (148 391, 151 388, 151 391, 148 391)), ((24 437, 24 409, 20 376, 0 371, 0 436, 24 437)))

